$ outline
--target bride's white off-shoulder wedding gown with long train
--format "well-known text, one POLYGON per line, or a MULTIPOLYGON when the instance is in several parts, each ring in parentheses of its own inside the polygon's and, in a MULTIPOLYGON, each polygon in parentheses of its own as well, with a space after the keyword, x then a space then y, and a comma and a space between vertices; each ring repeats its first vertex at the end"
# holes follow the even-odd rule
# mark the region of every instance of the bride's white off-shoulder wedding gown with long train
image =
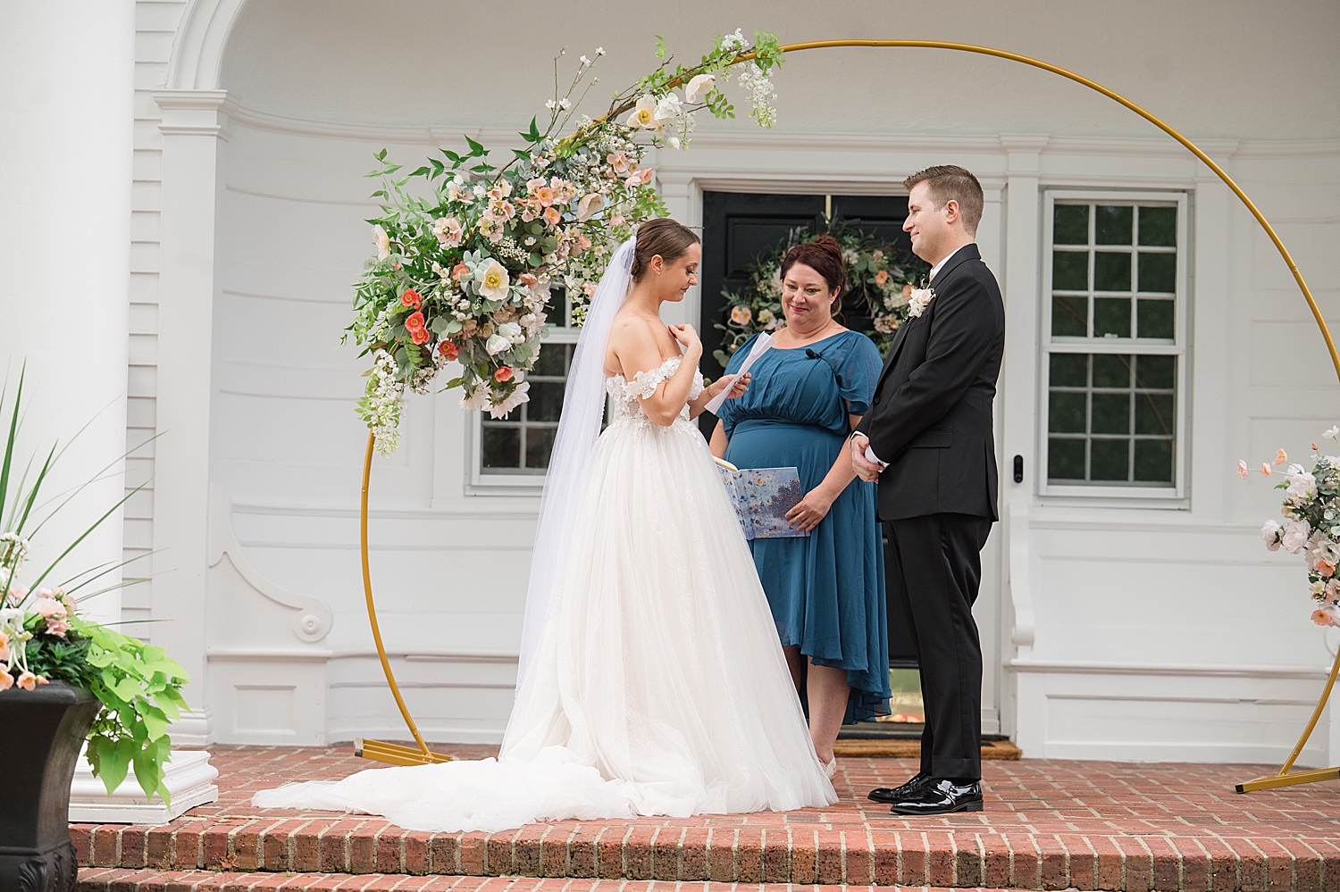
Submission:
POLYGON ((253 805, 493 832, 836 802, 708 445, 687 408, 665 427, 638 402, 678 366, 606 382, 610 426, 498 758, 292 784, 253 805))

